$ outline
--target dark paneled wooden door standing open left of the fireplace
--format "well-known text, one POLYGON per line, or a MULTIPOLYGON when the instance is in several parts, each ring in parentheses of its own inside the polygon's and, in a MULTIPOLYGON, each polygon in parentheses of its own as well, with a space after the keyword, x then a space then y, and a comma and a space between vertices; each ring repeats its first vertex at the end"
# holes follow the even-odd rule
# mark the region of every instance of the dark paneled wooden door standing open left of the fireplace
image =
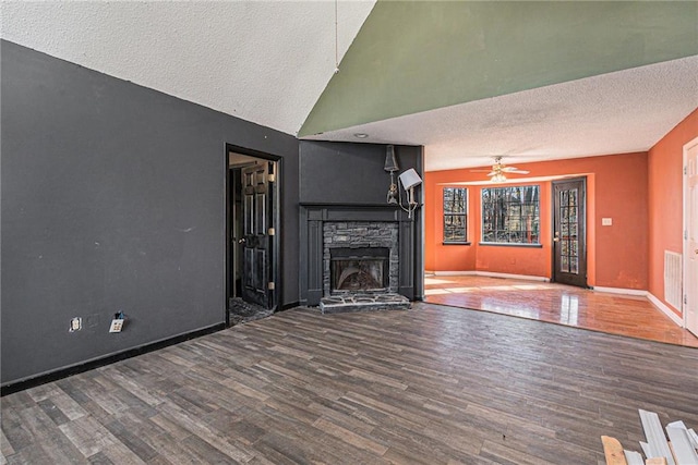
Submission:
POLYGON ((269 293, 274 283, 272 276, 272 244, 269 233, 272 218, 269 164, 257 164, 242 169, 242 289, 241 297, 269 308, 269 293))

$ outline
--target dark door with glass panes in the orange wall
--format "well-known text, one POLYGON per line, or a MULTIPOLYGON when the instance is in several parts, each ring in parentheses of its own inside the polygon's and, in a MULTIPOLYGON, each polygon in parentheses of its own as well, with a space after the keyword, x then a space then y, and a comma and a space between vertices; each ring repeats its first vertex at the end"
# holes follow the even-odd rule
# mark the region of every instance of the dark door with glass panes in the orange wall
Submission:
POLYGON ((586 179, 553 183, 553 281, 587 287, 586 179))

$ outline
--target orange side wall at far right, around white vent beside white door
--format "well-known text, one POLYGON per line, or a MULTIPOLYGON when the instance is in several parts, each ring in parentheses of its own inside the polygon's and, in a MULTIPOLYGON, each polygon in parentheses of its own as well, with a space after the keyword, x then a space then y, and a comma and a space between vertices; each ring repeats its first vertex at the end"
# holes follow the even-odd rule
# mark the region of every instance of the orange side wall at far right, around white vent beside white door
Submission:
MULTIPOLYGON (((664 250, 683 253, 684 145, 698 137, 698 109, 649 151, 649 292, 664 304, 664 250)), ((669 308, 681 315, 681 309, 669 308)))

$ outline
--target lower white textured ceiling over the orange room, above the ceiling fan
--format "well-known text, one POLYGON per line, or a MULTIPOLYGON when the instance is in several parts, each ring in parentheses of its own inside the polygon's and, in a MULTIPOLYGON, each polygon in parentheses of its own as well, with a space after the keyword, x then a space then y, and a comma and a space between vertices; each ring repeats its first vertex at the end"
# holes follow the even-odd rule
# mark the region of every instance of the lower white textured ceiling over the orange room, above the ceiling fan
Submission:
POLYGON ((332 131, 425 146, 428 171, 645 151, 698 108, 698 56, 332 131))

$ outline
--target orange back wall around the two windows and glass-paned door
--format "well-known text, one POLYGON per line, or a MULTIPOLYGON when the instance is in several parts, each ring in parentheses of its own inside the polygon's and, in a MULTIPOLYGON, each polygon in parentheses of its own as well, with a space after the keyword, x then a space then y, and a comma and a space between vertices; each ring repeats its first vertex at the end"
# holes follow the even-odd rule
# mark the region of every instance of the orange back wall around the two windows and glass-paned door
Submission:
MULTIPOLYGON (((516 163, 535 176, 587 176, 589 285, 646 290, 648 285, 647 154, 622 154, 538 163, 516 163), (601 227, 612 218, 612 227, 601 227)), ((432 171, 425 184, 425 268, 552 276, 551 182, 541 185, 541 248, 480 246, 480 185, 469 188, 470 245, 443 245, 443 187, 481 181, 470 169, 432 171), (450 183, 450 184, 449 184, 450 183)), ((514 183, 514 181, 512 181, 514 183)))

